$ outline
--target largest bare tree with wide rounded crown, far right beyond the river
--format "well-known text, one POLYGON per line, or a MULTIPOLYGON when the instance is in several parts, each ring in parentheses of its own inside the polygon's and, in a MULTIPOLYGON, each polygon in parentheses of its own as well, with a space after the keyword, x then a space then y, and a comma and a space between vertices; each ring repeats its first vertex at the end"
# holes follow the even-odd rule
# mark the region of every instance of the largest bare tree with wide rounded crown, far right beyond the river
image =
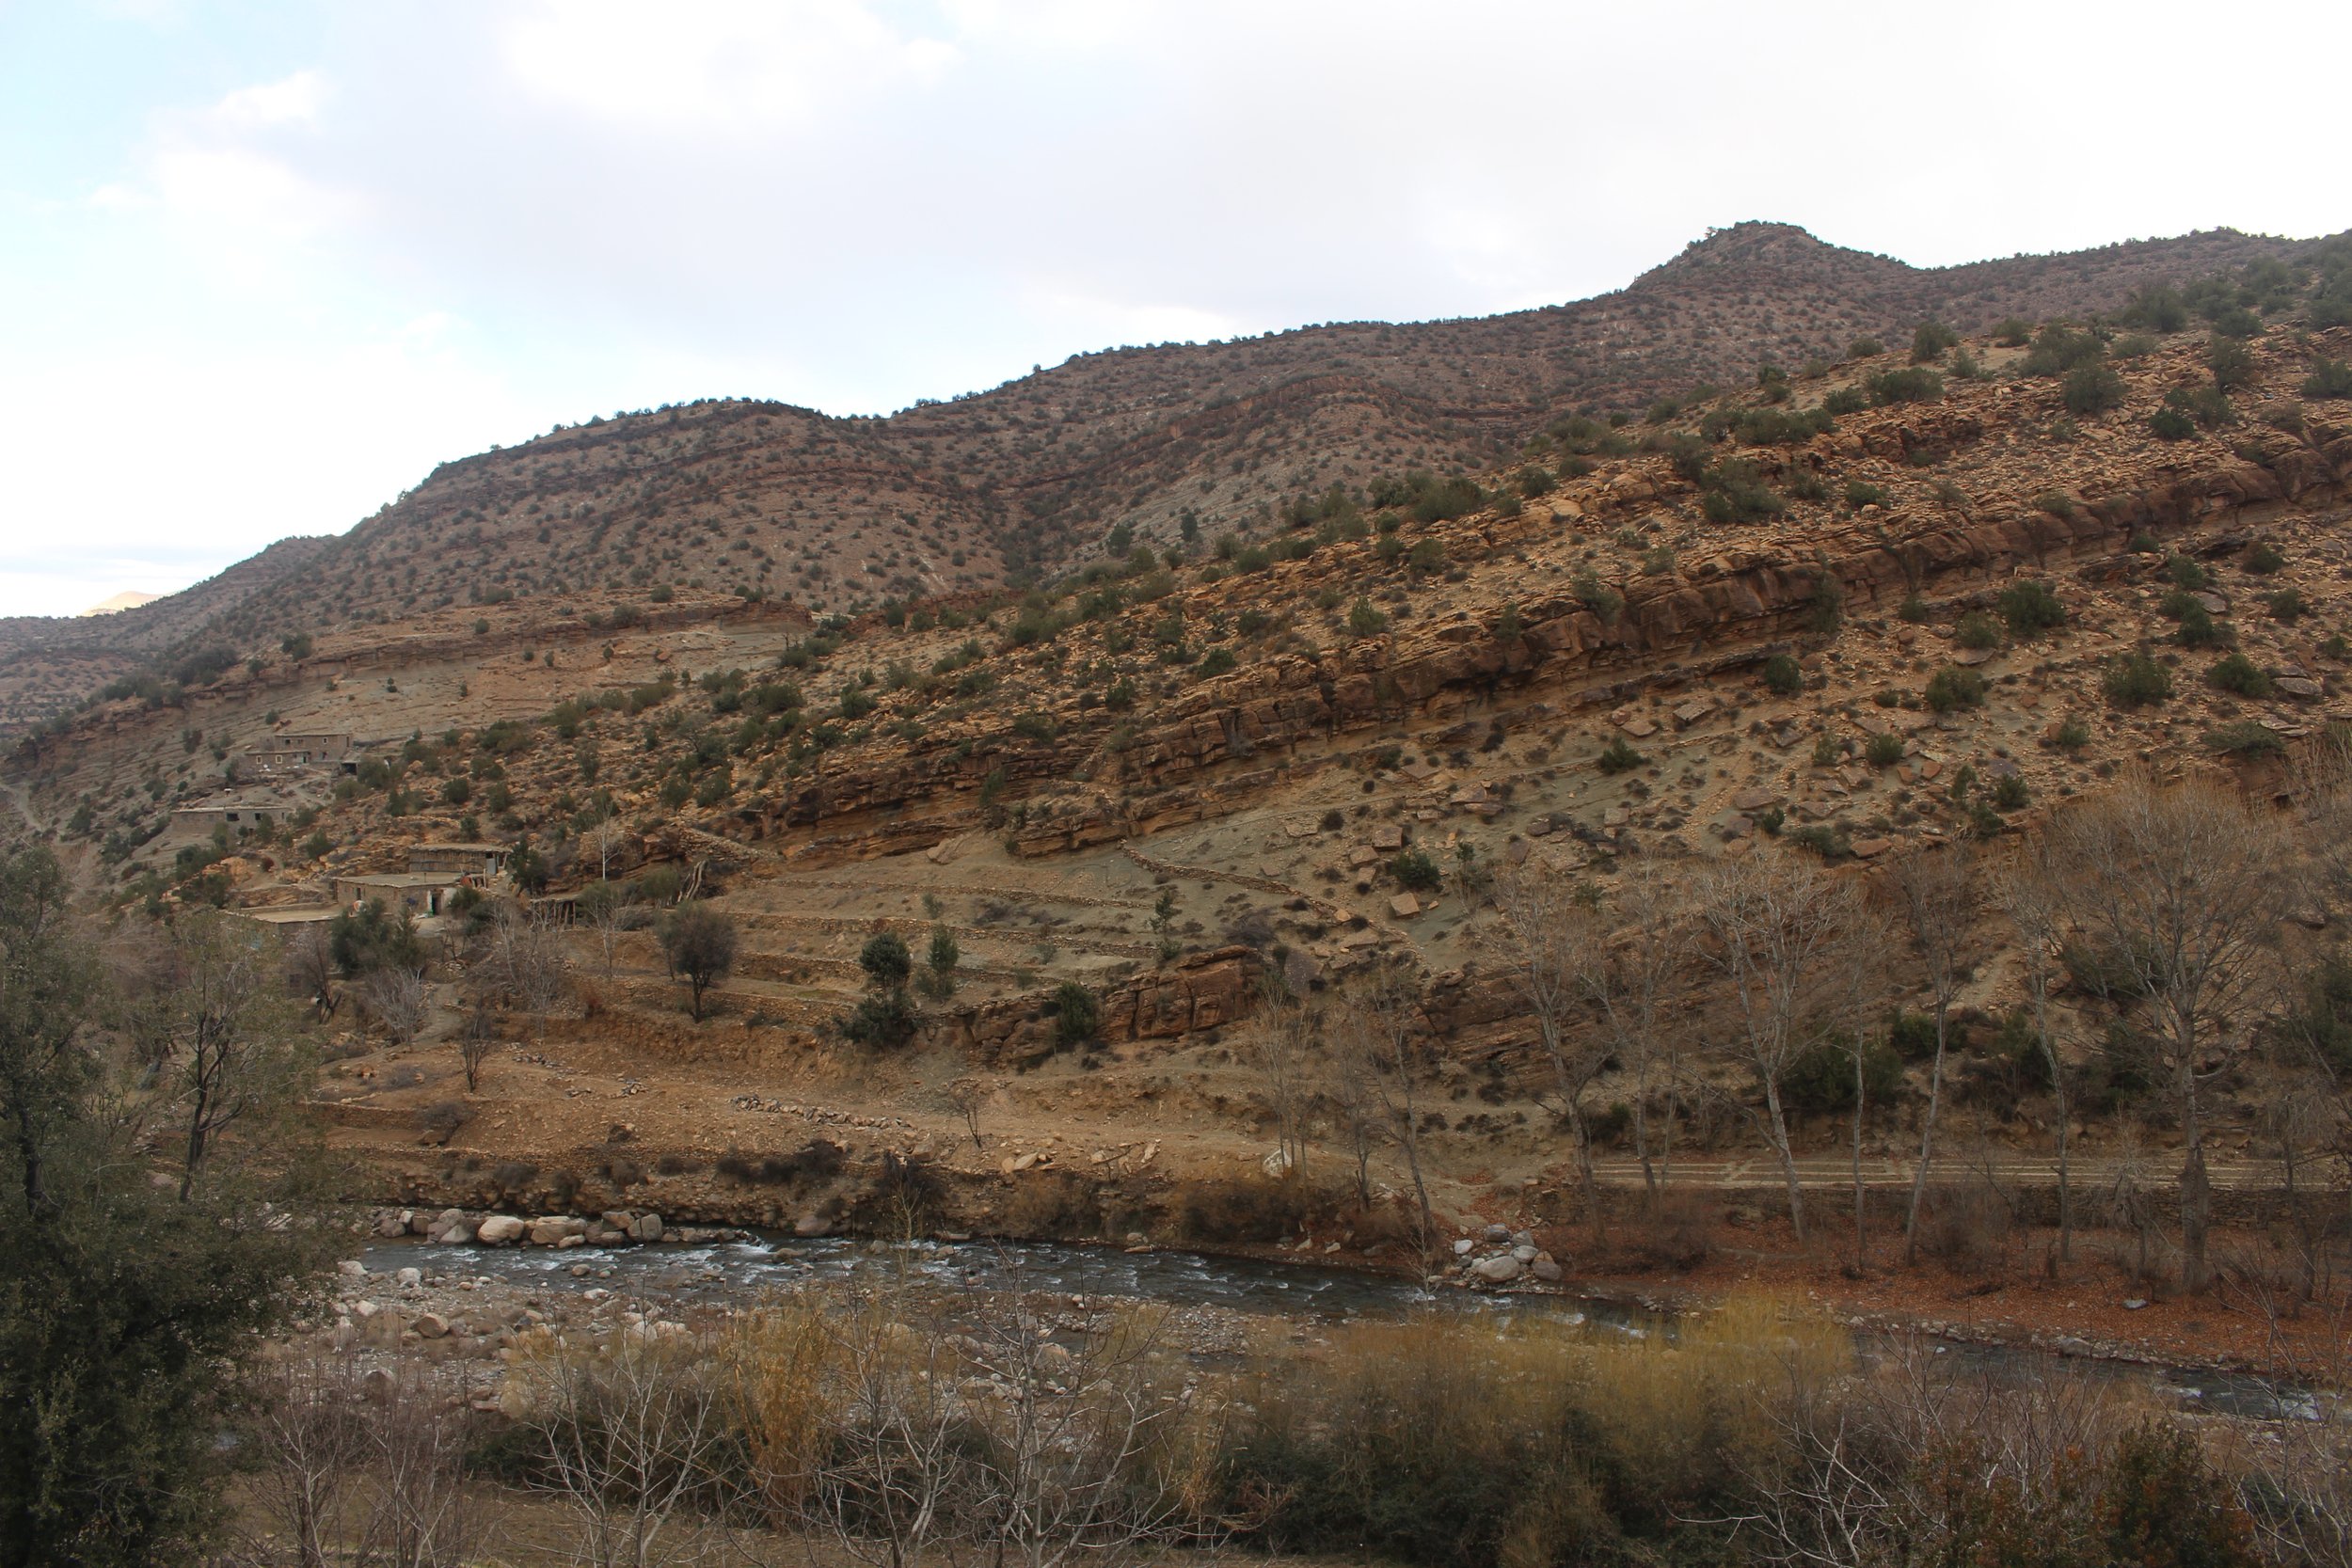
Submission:
POLYGON ((2279 825, 2216 780, 2159 785, 2145 771, 2056 823, 2060 896, 2089 950, 2086 978, 2143 1009, 2183 1140, 2180 1281, 2209 1281, 2204 1086, 2249 1046, 2293 907, 2279 825))

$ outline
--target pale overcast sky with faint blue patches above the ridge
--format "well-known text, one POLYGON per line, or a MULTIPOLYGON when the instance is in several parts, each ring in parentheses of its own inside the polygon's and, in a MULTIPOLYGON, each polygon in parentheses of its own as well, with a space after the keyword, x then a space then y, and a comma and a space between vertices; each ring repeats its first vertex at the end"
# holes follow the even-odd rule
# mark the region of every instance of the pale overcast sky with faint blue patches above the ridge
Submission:
POLYGON ((0 614, 614 409, 1484 315, 1710 226, 2352 226, 2326 5, 0 0, 0 614))

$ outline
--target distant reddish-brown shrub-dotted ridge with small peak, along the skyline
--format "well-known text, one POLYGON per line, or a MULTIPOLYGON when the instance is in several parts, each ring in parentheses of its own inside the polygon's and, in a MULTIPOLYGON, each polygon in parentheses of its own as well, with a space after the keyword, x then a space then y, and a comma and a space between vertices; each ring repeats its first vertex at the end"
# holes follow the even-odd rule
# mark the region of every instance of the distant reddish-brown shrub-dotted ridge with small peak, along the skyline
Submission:
POLYGON ((666 588, 856 614, 1028 583, 1105 541, 1197 552, 1268 529, 1308 489, 1491 468, 1564 411, 1642 411, 1764 362, 1900 343, 1922 320, 2107 313, 2152 282, 2310 254, 2216 230, 1910 268, 1740 223, 1543 310, 1120 348, 889 418, 753 402, 595 418, 447 463, 350 534, 287 541, 101 625, 0 625, 0 726, 191 654, 270 656, 296 632, 513 597, 666 588))

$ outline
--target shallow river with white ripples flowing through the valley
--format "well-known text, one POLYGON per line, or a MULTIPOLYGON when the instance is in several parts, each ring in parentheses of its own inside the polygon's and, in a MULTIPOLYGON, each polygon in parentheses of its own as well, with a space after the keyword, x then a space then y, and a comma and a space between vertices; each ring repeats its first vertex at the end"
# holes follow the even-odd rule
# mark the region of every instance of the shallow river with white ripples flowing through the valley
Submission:
MULTIPOLYGON (((485 1248, 428 1246, 423 1241, 376 1241, 362 1260, 369 1269, 416 1265, 433 1274, 466 1274, 508 1281, 529 1291, 567 1293, 602 1286, 673 1309, 741 1307, 771 1291, 861 1272, 906 1269, 922 1281, 955 1288, 1021 1288, 1070 1295, 1105 1295, 1164 1307, 1223 1307, 1310 1326, 1399 1319, 1411 1312, 1475 1312, 1498 1324, 1515 1316, 1566 1319, 1595 1333, 1675 1335, 1670 1314, 1646 1307, 1545 1293, 1489 1293, 1425 1286, 1397 1274, 1331 1269, 1312 1262, 1214 1258, 1181 1251, 1124 1253, 1056 1241, 915 1241, 877 1246, 840 1237, 755 1237, 706 1246, 628 1248, 485 1248), (574 1274, 586 1267, 586 1274, 574 1274)), ((1886 1354, 1896 1340, 1858 1335, 1865 1356, 1886 1354)), ((1926 1342, 1926 1352, 1952 1356, 1955 1371, 2002 1382, 2030 1382, 2060 1371, 2117 1378, 2159 1399, 2216 1415, 2256 1420, 2319 1420, 2321 1399, 2293 1382, 2209 1368, 2143 1366, 2058 1356, 2013 1345, 1926 1342)))

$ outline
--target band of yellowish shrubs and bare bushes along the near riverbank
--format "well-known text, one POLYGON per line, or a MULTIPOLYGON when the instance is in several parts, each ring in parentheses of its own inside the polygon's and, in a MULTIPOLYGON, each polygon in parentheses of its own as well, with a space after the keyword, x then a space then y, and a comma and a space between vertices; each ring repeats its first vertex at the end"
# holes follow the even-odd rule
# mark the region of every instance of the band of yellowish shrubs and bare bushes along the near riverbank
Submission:
POLYGON ((247 1427, 242 1561, 2352 1561, 2340 1420, 1865 1361, 1771 1298, 1649 1338, 1442 1314, 1216 1363, 1164 1328, 837 1284, 701 1333, 541 1331, 496 1413, 414 1368, 289 1359, 247 1427), (369 1544, 402 1530, 407 1556, 369 1544))

